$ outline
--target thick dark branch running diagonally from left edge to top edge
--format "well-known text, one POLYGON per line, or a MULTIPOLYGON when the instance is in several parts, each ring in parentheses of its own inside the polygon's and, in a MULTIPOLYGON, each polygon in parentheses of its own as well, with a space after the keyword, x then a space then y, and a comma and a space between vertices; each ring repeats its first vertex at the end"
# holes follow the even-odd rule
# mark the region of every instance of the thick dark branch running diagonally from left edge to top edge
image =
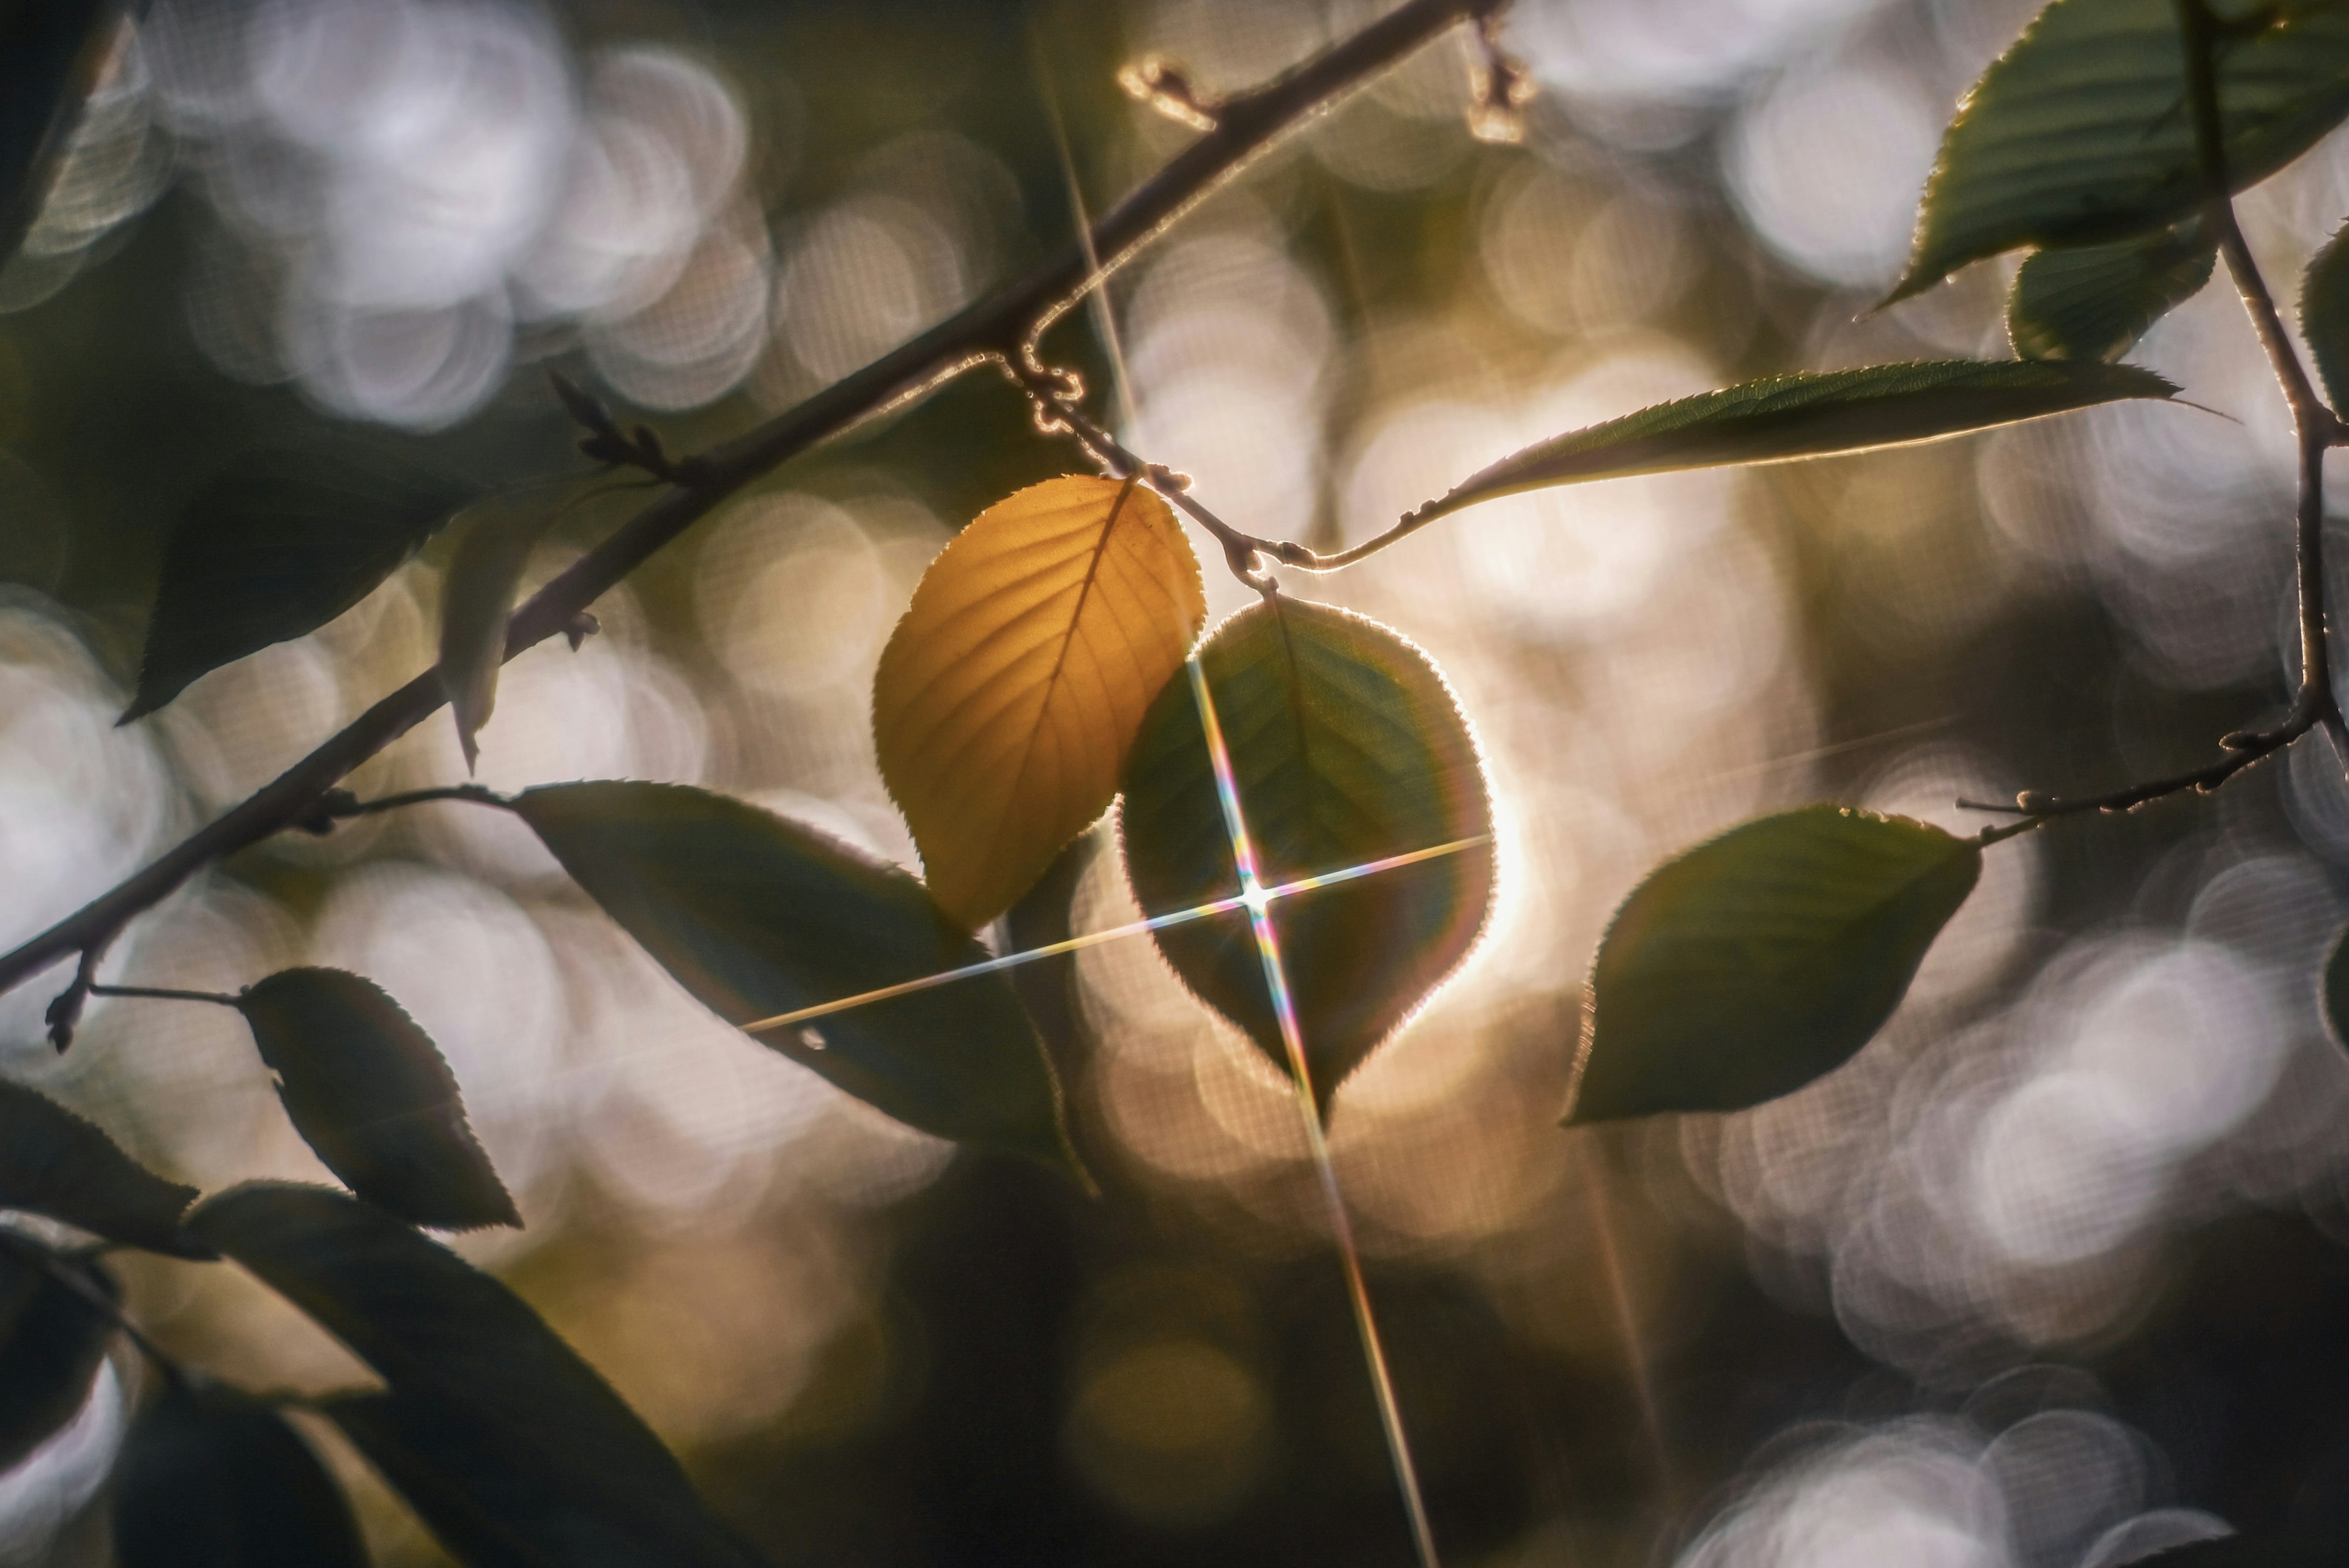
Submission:
MULTIPOLYGON (((1482 21, 1499 7, 1501 0, 1405 0, 1398 9, 1268 85, 1224 101, 1217 108, 1214 129, 1177 153, 1158 174, 1106 211, 1092 225, 1085 244, 1062 246, 1059 254, 1005 289, 958 310, 749 434, 693 460, 691 484, 662 491, 514 613, 505 636, 505 657, 512 660, 524 648, 571 629, 590 603, 637 570, 653 552, 754 479, 810 446, 923 397, 977 364, 1027 354, 1045 329, 1076 307, 1109 272, 1219 190, 1285 131, 1327 110, 1454 23, 1482 21)), ((428 669, 390 692, 242 805, 14 953, 0 955, 0 991, 23 984, 61 958, 101 948, 132 918, 160 904, 200 869, 298 824, 315 812, 319 796, 352 768, 423 723, 442 702, 446 695, 437 669, 428 669)))

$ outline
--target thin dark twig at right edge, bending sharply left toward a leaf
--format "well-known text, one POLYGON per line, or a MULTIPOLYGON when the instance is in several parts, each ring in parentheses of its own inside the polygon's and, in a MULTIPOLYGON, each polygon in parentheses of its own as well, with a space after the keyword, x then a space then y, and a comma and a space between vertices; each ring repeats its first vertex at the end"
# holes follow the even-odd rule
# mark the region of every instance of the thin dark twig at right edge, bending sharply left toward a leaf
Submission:
POLYGON ((2227 176, 2227 136, 2217 101, 2217 21, 2210 16, 2208 0, 2175 0, 2175 5, 2187 68, 2187 110, 2194 120, 2194 155, 2201 164, 2206 192, 2203 228, 2217 239, 2220 256, 2227 258, 2227 275, 2234 279, 2236 293, 2243 296, 2243 310, 2250 315, 2260 347, 2267 350, 2276 385, 2283 387, 2283 401, 2293 411, 2293 432, 2300 446, 2300 507, 2295 514, 2293 549, 2300 603, 2300 690, 2293 695, 2293 707, 2283 721, 2271 730, 2220 739, 2227 756, 2208 768, 2131 784, 2107 796, 2058 798, 2027 789, 2015 796, 2013 805, 1959 800, 1968 810, 2013 812, 2020 817, 2020 822, 1976 833, 1976 843, 1983 845, 2030 833, 2058 817, 2133 812, 2149 800, 2185 791, 2206 796, 2311 730, 2323 730, 2333 742, 2335 756, 2349 768, 2349 723, 2342 721, 2340 697, 2333 690, 2333 655, 2326 627, 2326 451, 2342 446, 2349 439, 2349 430, 2342 427, 2342 420, 2316 392, 2307 366, 2300 364, 2300 350, 2293 347, 2293 336, 2276 312, 2276 296, 2260 275, 2260 263, 2243 239, 2243 225, 2234 216, 2234 183, 2227 176))

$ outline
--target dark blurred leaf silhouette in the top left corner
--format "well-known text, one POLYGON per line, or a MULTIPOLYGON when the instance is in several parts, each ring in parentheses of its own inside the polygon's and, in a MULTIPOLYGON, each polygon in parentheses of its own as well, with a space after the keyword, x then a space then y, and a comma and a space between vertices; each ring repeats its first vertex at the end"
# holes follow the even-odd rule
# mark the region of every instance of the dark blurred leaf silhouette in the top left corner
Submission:
POLYGON ((120 21, 113 0, 0 7, 0 263, 23 244, 49 197, 120 21))

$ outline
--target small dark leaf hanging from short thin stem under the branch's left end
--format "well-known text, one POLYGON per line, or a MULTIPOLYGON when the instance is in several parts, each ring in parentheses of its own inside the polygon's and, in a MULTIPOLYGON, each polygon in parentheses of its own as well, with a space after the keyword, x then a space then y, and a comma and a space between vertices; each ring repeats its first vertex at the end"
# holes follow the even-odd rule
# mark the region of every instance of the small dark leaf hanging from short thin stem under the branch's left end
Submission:
POLYGON ((352 1192, 435 1230, 521 1225, 465 1122, 456 1075, 383 986, 284 969, 249 986, 237 1012, 294 1129, 352 1192))

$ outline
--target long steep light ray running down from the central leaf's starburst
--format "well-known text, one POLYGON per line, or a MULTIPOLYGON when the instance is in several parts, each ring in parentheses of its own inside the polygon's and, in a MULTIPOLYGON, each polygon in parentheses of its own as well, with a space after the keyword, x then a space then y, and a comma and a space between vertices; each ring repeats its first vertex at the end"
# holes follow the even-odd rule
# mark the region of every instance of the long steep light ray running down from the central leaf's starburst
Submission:
POLYGON ((1412 1462, 1412 1439, 1402 1430, 1402 1406, 1395 1401, 1395 1380, 1386 1371, 1386 1347, 1379 1340, 1379 1319, 1369 1307, 1362 1256, 1353 1244, 1353 1218, 1346 1214, 1346 1195, 1337 1185, 1337 1164, 1330 1162, 1330 1136, 1322 1131, 1320 1106, 1313 1099, 1304 1026, 1290 998, 1290 974, 1280 962, 1280 934, 1273 930, 1276 892, 1266 890, 1257 873, 1257 847, 1247 838, 1247 817, 1240 810, 1240 779, 1231 770, 1231 751, 1224 746, 1224 723, 1214 714, 1207 671, 1200 669, 1198 655, 1191 655, 1186 669, 1191 671, 1191 695, 1198 699, 1198 723, 1207 732, 1207 765, 1214 770, 1214 793, 1224 805, 1231 859, 1240 873, 1238 901, 1247 908, 1247 922, 1257 932, 1257 955, 1264 958, 1264 988, 1271 993, 1273 1019, 1280 1023, 1280 1049, 1290 1059, 1290 1084, 1297 1089, 1297 1110, 1306 1124, 1306 1145, 1313 1150, 1313 1171, 1320 1176, 1322 1202, 1330 1209, 1330 1237, 1337 1242, 1339 1263, 1346 1268, 1346 1296, 1353 1303, 1353 1326, 1362 1338, 1362 1359, 1369 1361, 1369 1390, 1379 1399, 1386 1455, 1395 1465, 1395 1486, 1402 1491, 1402 1507, 1412 1519, 1412 1545, 1419 1549, 1419 1563, 1421 1568, 1440 1568, 1435 1530, 1428 1526, 1428 1505, 1419 1491, 1419 1467, 1412 1462))

